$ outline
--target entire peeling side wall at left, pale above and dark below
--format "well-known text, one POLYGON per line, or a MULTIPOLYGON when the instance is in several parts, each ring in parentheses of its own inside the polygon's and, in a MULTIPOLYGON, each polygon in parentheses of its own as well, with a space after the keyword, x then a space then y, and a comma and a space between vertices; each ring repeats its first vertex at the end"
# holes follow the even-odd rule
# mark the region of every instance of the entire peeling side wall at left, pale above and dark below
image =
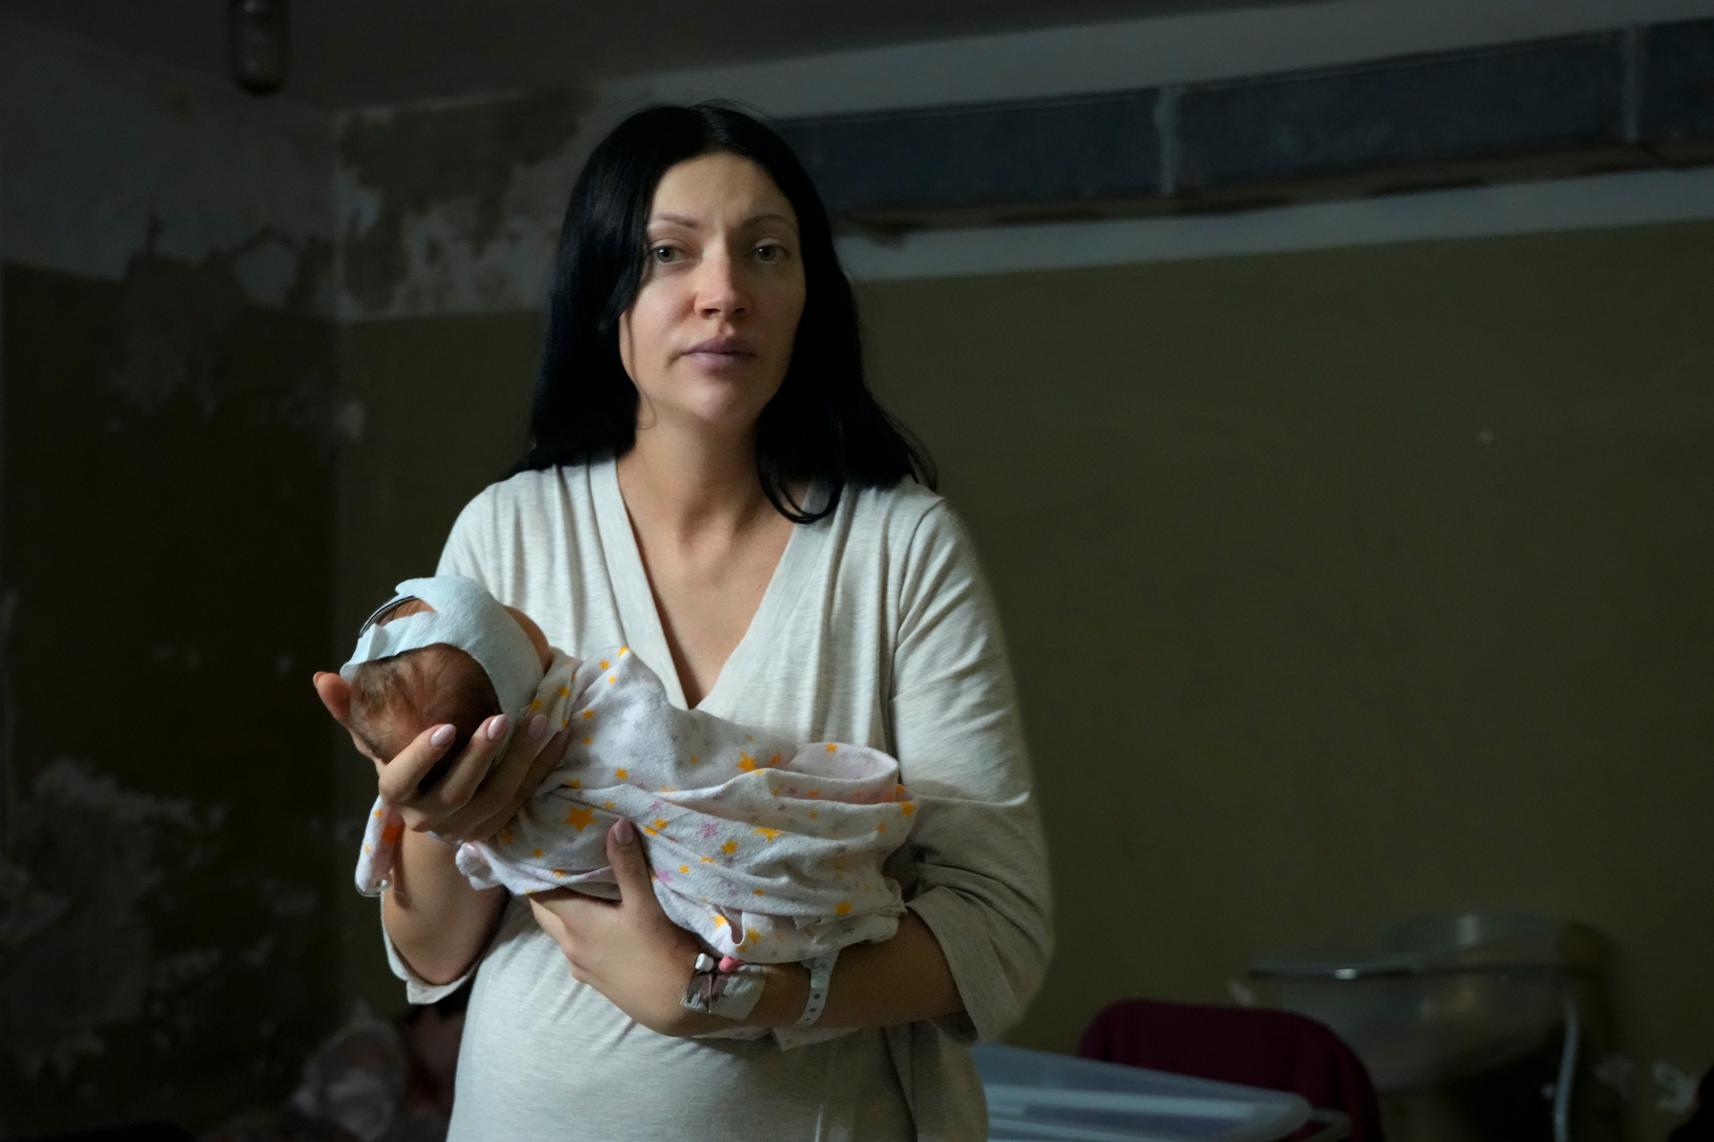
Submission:
POLYGON ((333 123, 0 19, 0 1137, 201 1128, 339 1017, 333 123))

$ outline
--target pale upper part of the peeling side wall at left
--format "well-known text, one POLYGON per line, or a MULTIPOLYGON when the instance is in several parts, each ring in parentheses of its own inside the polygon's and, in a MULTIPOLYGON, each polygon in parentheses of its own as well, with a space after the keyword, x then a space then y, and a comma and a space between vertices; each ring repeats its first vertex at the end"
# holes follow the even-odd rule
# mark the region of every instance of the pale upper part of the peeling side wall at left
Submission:
POLYGON ((118 281, 146 245, 230 255, 249 301, 331 313, 321 111, 0 17, 0 154, 9 262, 118 281))

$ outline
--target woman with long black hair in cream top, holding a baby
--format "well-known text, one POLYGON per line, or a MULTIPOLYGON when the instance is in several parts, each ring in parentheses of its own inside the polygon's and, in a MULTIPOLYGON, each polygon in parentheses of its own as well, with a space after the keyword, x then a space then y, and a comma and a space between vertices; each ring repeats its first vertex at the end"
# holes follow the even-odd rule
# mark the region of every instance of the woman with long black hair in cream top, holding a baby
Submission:
MULTIPOLYGON (((596 147, 533 433, 440 572, 574 656, 629 645, 686 707, 896 755, 919 813, 888 875, 910 911, 838 959, 818 1026, 855 1034, 691 1038, 734 1024, 680 1005, 696 940, 655 901, 629 822, 608 836, 619 904, 476 892, 452 866, 447 841, 495 832, 562 740, 535 717, 495 762, 494 719, 418 791, 451 740, 425 731, 381 769, 411 827, 384 923, 413 1002, 480 964, 451 1137, 984 1139, 965 1048, 1020 1015, 1049 945, 1011 676, 963 529, 864 387, 826 212, 768 128, 655 108, 596 147)), ((317 687, 343 721, 343 683, 317 687)), ((807 972, 766 972, 746 1024, 792 1026, 807 972)))

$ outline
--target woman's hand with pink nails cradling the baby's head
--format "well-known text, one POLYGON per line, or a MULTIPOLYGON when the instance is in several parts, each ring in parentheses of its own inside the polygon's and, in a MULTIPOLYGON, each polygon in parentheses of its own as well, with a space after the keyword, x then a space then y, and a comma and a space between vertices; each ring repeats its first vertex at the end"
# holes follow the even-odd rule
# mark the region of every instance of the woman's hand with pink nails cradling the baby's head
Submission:
MULTIPOLYGON (((334 673, 315 675, 315 693, 346 729, 351 728, 351 687, 334 673)), ((405 827, 449 841, 485 841, 509 822, 536 786, 559 765, 569 731, 547 736, 547 719, 530 717, 506 743, 509 719, 497 714, 476 728, 470 745, 427 789, 422 779, 440 762, 452 741, 452 726, 430 726, 391 762, 369 753, 357 735, 358 752, 375 764, 381 800, 399 810, 405 827)))

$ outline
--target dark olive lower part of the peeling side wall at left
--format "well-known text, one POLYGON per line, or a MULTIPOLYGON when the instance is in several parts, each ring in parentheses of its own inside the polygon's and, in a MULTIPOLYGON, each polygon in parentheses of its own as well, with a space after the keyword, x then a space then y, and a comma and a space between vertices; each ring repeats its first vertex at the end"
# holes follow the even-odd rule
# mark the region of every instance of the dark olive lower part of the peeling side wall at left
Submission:
POLYGON ((0 1135, 202 1128, 338 1022, 333 327, 225 259, 3 272, 0 1135))

